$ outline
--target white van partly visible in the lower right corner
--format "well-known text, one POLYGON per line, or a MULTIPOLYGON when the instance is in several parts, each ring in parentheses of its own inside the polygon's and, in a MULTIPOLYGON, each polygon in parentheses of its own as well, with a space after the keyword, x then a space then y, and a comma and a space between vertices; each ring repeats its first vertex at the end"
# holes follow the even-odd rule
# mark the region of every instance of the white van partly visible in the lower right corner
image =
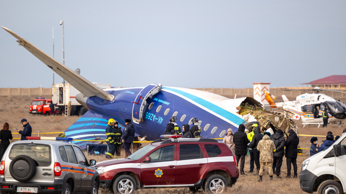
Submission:
POLYGON ((299 182, 308 193, 346 193, 346 133, 328 149, 303 162, 299 182))

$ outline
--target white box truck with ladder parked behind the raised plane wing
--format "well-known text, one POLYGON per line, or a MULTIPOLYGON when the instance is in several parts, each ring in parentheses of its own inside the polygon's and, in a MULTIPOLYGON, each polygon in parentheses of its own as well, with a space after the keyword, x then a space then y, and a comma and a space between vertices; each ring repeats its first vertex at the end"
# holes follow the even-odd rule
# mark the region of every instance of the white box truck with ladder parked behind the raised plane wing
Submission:
MULTIPOLYGON (((102 89, 110 88, 110 84, 93 84, 102 89)), ((71 101, 71 115, 84 115, 88 109, 83 107, 76 100, 76 94, 78 93, 80 92, 69 83, 65 83, 65 89, 63 83, 54 84, 52 87, 52 101, 53 104, 58 106, 55 108, 57 110, 57 114, 65 114, 65 116, 67 116, 67 105, 71 101)))

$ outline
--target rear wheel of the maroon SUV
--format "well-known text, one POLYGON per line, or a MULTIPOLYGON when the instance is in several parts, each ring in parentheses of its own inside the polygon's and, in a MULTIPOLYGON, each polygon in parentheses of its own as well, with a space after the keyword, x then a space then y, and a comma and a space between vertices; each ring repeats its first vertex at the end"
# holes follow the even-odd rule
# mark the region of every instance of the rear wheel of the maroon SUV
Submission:
POLYGON ((223 176, 220 175, 211 175, 207 178, 207 181, 204 183, 204 188, 207 192, 211 193, 222 193, 227 189, 227 181, 223 176))

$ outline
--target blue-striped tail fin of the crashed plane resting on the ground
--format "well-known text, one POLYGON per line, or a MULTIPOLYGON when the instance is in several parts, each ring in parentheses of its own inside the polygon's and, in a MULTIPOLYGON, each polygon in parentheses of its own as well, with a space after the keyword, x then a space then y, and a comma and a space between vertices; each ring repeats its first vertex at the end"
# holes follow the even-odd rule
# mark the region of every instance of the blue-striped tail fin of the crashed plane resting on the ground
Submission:
MULTIPOLYGON (((90 140, 106 139, 106 127, 109 119, 107 116, 89 110, 65 130, 65 136, 73 138, 72 143, 79 145, 81 149, 85 149, 86 144, 100 144, 101 142, 90 140)), ((124 130, 124 126, 120 123, 119 127, 124 130)), ((137 136, 139 135, 135 134, 135 137, 137 136)))

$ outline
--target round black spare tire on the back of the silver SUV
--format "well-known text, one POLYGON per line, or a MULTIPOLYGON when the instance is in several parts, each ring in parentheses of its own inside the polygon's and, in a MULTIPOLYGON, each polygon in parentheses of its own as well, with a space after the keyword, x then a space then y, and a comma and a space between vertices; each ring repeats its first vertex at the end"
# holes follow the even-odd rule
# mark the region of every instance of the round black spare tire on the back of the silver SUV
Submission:
POLYGON ((12 159, 10 174, 15 180, 19 182, 29 181, 35 173, 36 164, 33 158, 27 155, 19 155, 12 159))

